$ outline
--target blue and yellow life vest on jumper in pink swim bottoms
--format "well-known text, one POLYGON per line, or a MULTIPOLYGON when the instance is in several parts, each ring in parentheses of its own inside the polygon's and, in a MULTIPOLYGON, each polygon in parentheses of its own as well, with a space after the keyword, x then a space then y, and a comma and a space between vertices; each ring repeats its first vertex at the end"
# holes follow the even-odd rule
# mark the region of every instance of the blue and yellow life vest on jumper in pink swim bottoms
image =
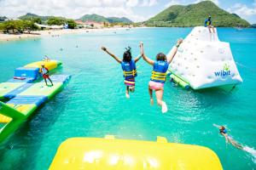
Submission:
POLYGON ((166 71, 168 70, 166 61, 154 61, 153 71, 150 80, 154 82, 166 82, 166 71))

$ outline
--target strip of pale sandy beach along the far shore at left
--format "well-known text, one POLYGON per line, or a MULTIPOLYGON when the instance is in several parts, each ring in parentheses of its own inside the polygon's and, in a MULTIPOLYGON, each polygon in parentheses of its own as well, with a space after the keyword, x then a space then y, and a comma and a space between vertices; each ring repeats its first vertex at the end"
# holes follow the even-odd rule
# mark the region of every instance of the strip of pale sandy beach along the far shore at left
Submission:
POLYGON ((45 36, 60 36, 64 34, 80 34, 88 32, 101 32, 101 31, 117 31, 129 28, 101 28, 101 29, 63 29, 63 30, 45 30, 45 31, 32 31, 31 34, 3 34, 0 33, 0 42, 9 42, 26 38, 40 38, 45 36))

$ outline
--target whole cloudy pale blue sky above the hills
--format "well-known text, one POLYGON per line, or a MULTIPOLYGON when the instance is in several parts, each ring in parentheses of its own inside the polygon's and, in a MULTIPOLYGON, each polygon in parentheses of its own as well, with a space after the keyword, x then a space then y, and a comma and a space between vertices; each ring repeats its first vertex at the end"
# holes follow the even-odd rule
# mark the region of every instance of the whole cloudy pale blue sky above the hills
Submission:
MULTIPOLYGON (((11 18, 27 12, 59 15, 78 19, 84 14, 125 16, 134 21, 148 20, 163 9, 174 5, 199 3, 201 0, 0 0, 0 16, 11 18)), ((212 0, 220 8, 256 23, 256 0, 212 0)))

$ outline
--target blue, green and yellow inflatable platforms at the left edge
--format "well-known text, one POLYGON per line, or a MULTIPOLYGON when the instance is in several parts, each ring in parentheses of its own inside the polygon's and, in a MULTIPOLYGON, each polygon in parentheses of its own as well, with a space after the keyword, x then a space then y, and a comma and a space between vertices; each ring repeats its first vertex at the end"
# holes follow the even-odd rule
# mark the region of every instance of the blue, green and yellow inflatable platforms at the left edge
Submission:
POLYGON ((15 69, 15 75, 0 83, 0 143, 17 130, 67 84, 69 75, 50 75, 54 86, 46 86, 39 72, 44 65, 50 72, 61 67, 57 60, 33 62, 15 69))

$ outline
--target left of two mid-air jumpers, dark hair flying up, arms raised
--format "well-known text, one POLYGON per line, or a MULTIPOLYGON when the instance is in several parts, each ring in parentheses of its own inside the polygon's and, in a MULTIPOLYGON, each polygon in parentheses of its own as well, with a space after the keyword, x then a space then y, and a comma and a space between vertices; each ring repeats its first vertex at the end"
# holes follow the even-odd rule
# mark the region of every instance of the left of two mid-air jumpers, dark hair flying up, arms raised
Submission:
POLYGON ((125 96, 127 99, 130 98, 130 92, 135 91, 135 77, 137 77, 137 69, 136 63, 142 56, 137 57, 136 59, 132 59, 131 56, 131 48, 126 48, 125 53, 123 54, 123 60, 116 57, 114 54, 111 54, 107 48, 102 47, 102 50, 105 51, 107 54, 113 57, 119 64, 122 66, 122 70, 124 72, 125 77, 125 96))

